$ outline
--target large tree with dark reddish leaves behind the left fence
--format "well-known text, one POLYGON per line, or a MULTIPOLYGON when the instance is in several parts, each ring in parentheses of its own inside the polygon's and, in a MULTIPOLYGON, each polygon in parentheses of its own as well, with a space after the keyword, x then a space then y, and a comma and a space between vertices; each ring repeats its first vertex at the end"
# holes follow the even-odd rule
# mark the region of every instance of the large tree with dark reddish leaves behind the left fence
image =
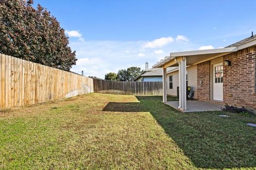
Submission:
POLYGON ((75 52, 57 19, 33 0, 0 0, 0 53, 69 71, 75 52))

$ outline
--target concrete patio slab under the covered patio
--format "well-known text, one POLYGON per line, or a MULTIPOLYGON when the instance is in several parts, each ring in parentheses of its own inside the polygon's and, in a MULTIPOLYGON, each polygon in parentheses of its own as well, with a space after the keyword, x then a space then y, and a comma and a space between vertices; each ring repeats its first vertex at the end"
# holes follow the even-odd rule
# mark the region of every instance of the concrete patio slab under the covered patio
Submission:
POLYGON ((179 101, 167 101, 164 104, 169 105, 180 112, 187 113, 187 112, 205 112, 205 111, 221 111, 221 107, 224 104, 217 104, 211 103, 206 101, 197 101, 197 100, 188 100, 187 101, 187 110, 181 111, 179 106, 179 101))

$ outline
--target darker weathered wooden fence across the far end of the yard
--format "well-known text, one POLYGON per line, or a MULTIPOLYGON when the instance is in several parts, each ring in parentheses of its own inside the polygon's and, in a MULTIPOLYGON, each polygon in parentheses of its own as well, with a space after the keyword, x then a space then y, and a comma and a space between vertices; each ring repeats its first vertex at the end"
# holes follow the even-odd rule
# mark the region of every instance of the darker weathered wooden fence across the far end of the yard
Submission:
POLYGON ((162 95, 162 82, 111 81, 93 79, 94 92, 119 95, 162 95))

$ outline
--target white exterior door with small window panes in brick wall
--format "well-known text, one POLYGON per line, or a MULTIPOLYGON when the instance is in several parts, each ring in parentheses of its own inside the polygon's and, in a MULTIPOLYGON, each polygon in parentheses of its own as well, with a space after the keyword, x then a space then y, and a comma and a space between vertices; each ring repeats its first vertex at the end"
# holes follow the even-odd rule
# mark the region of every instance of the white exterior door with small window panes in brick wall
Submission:
POLYGON ((223 101, 223 63, 213 65, 213 100, 223 101))

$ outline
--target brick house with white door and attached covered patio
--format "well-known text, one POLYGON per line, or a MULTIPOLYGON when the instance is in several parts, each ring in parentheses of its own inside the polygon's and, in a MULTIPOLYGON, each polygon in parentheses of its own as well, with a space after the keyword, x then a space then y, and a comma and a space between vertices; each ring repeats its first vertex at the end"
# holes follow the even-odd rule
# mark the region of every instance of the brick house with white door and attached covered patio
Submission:
POLYGON ((201 101, 256 109, 255 56, 256 36, 251 36, 225 48, 171 53, 153 68, 163 72, 164 102, 180 87, 181 110, 187 110, 186 86, 195 89, 194 98, 201 101))

